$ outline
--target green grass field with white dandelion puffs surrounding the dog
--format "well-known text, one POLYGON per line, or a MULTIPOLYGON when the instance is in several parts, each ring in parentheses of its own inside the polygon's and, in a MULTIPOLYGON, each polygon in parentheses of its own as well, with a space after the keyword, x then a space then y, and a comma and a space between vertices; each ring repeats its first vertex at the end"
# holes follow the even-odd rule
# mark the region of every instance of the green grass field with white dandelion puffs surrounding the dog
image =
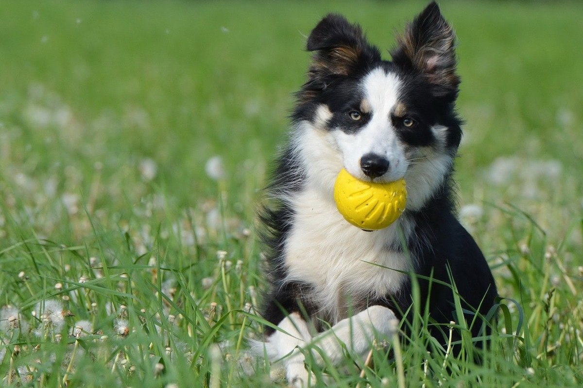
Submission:
MULTIPOLYGON (((254 208, 305 36, 342 12, 389 48, 423 2, 0 3, 2 386, 285 386, 261 335, 254 208)), ((461 219, 504 300, 483 365, 423 322, 318 385, 583 386, 583 7, 448 2, 461 219), (427 366, 426 369, 424 367, 427 366)))

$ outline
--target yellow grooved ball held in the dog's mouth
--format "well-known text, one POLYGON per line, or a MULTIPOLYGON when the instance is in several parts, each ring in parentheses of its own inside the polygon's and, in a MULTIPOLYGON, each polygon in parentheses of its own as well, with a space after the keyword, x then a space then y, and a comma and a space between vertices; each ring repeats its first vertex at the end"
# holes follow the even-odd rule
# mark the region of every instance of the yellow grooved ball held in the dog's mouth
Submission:
POLYGON ((334 183, 334 201, 344 218, 365 230, 391 225, 407 202, 405 179, 376 183, 356 179, 342 169, 334 183))

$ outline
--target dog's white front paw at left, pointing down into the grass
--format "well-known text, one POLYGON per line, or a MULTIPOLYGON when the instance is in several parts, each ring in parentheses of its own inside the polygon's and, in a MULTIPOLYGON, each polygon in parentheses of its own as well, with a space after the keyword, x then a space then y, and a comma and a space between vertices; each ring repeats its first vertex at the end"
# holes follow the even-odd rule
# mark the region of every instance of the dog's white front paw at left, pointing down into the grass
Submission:
POLYGON ((298 312, 293 312, 279 323, 278 328, 281 330, 271 334, 264 344, 268 357, 281 359, 290 385, 305 387, 308 385, 308 371, 305 369, 304 355, 298 348, 305 347, 311 340, 308 325, 298 312))

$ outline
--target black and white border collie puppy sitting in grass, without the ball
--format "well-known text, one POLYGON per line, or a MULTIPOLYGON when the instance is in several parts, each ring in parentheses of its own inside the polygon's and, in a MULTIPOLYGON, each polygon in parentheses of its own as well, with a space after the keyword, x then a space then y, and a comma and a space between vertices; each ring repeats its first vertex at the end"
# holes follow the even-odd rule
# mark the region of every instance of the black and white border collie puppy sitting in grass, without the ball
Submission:
MULTIPOLYGON (((406 26, 391 61, 339 15, 308 37, 308 80, 260 212, 271 285, 262 315, 278 330, 267 328, 255 345, 283 361, 294 385, 308 380, 298 348, 313 344, 339 362, 343 346, 366 354, 375 335, 390 336, 395 320, 410 319, 412 281, 421 291, 417 311, 429 306, 429 330, 442 343, 458 321, 454 292, 468 326, 494 306, 490 269, 454 213, 462 136, 454 41, 434 2, 406 26), (342 168, 361 180, 404 178, 401 217, 374 232, 350 225, 333 199, 342 168)), ((488 332, 475 321, 473 336, 488 332)))

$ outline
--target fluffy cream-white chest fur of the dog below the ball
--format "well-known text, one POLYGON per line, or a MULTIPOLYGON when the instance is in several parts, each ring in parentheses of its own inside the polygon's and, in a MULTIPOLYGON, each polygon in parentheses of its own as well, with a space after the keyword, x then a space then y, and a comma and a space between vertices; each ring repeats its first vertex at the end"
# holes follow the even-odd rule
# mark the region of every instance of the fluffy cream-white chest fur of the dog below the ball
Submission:
POLYGON ((346 222, 332 198, 322 195, 306 190, 293 200, 296 218, 286 240, 286 280, 310 284, 310 298, 335 323, 345 318, 347 301, 382 298, 399 290, 406 275, 396 270, 409 270, 410 259, 391 247, 400 244, 398 228, 406 236, 412 225, 400 219, 386 229, 364 232, 346 222))

